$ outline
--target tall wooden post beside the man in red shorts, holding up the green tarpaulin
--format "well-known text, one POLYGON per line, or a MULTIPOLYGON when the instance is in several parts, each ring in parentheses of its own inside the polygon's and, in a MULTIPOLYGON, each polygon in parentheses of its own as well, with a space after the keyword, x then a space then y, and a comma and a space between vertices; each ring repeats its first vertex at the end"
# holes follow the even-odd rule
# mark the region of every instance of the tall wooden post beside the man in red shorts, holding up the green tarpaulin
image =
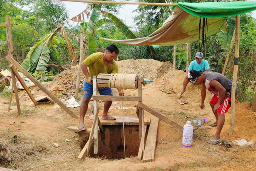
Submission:
POLYGON ((232 79, 231 90, 231 118, 229 135, 233 135, 235 124, 235 108, 236 108, 236 84, 237 84, 237 72, 238 72, 238 59, 239 59, 239 31, 240 31, 240 15, 236 15, 236 45, 235 45, 235 60, 234 60, 234 72, 232 79))

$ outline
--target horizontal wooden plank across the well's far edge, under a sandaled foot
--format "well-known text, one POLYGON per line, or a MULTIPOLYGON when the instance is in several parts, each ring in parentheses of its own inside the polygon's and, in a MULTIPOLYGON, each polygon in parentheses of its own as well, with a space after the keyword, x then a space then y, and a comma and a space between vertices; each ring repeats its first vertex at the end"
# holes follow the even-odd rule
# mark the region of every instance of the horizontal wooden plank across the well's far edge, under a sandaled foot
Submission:
MULTIPOLYGON (((102 125, 123 125, 123 116, 114 116, 116 120, 100 119, 102 125)), ((144 125, 150 124, 150 118, 144 118, 144 125)), ((124 116, 124 125, 139 125, 139 119, 132 116, 124 116)))

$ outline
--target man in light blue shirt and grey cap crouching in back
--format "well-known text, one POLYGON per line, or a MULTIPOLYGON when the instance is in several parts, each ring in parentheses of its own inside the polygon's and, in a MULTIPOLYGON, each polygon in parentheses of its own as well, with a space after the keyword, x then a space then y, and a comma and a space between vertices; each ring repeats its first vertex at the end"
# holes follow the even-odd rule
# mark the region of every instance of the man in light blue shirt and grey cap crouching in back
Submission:
MULTIPOLYGON (((192 69, 195 71, 210 71, 210 66, 208 64, 207 60, 203 60, 203 53, 202 52, 196 52, 196 56, 195 56, 196 60, 193 60, 188 67, 188 72, 191 71, 192 69)), ((183 80, 183 88, 181 90, 181 92, 178 94, 178 98, 181 98, 181 95, 186 91, 186 87, 188 85, 188 74, 186 74, 186 76, 184 77, 183 80)))

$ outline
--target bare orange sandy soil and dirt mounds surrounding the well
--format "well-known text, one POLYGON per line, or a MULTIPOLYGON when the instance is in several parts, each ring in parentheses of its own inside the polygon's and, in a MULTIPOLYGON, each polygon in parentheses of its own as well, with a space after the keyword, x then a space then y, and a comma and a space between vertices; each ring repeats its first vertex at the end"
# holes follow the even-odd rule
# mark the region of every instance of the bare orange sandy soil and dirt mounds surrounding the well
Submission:
MULTIPOLYGON (((144 104, 158 110, 167 118, 184 125, 187 120, 193 120, 194 117, 202 118, 200 113, 205 114, 208 119, 214 118, 212 114, 210 101, 212 94, 207 92, 205 104, 206 109, 200 110, 200 86, 189 84, 187 91, 184 93, 182 100, 187 100, 188 104, 180 105, 176 102, 177 93, 181 90, 182 80, 185 73, 179 70, 169 70, 162 73, 161 66, 166 65, 154 60, 126 60, 119 61, 120 71, 133 71, 139 76, 154 79, 155 81, 143 86, 142 101, 144 104), (147 63, 148 62, 148 63, 147 63), (122 64, 121 64, 122 63, 122 64), (145 64, 146 63, 146 64, 145 64), (139 66, 135 68, 135 66, 139 66), (141 66, 150 67, 143 70, 141 66), (145 71, 145 72, 142 72, 145 71), (158 75, 161 71, 162 75, 158 75), (140 74, 144 75, 140 75, 140 74), (156 75, 154 75, 156 74, 156 75), (150 76, 153 76, 152 78, 150 76), (159 89, 168 88, 172 94, 166 94, 159 89), (188 110, 182 108, 187 107, 188 110)), ((169 64, 168 64, 169 65, 169 64)), ((76 68, 73 67, 62 72, 53 81, 44 83, 44 85, 59 98, 68 98, 73 95, 76 79, 76 68), (72 85, 66 88, 62 84, 63 80, 67 80, 67 84, 72 85), (63 94, 64 93, 64 94, 63 94)), ((82 74, 81 74, 82 76, 82 74)), ((83 78, 80 83, 82 84, 83 78)), ((80 90, 81 91, 81 90, 80 90)), ((31 88, 34 96, 44 95, 41 90, 31 88)), ((113 89, 114 94, 117 91, 113 89)), ((124 90, 125 95, 138 95, 137 90, 124 90)), ((22 91, 19 92, 22 94, 22 91)), ((79 94, 81 98, 82 93, 79 94)), ((12 99, 14 102, 15 98, 12 99)), ((56 170, 93 170, 93 171, 120 171, 120 170, 136 170, 136 171, 251 171, 256 170, 256 148, 251 146, 237 146, 233 144, 230 148, 218 145, 210 145, 206 142, 215 133, 216 127, 203 130, 196 128, 195 132, 198 138, 193 141, 192 148, 184 148, 181 146, 182 132, 176 130, 169 124, 160 120, 158 126, 157 148, 155 153, 155 161, 143 163, 136 157, 126 158, 122 160, 102 160, 101 158, 86 157, 83 160, 77 159, 81 149, 79 147, 79 136, 75 132, 68 131, 68 126, 76 126, 78 120, 71 118, 61 108, 54 107, 54 104, 42 104, 38 106, 30 105, 31 100, 25 94, 20 99, 22 115, 17 115, 17 108, 14 103, 11 105, 11 111, 8 112, 8 104, 4 104, 8 99, 0 98, 0 144, 8 147, 10 150, 7 154, 6 149, 0 154, 0 167, 7 167, 16 170, 37 170, 37 171, 56 171, 56 170), (13 125, 10 122, 14 121, 13 125), (12 137, 18 136, 17 143, 14 143, 12 137), (55 147, 53 143, 59 144, 55 147), (1 162, 1 157, 11 157, 12 164, 1 162)), ((92 102, 90 102, 92 104, 92 102)), ((113 102, 109 114, 111 115, 130 115, 136 117, 136 102, 113 102), (120 109, 120 107, 125 109, 120 109)), ((90 106, 90 104, 89 104, 90 106)), ((100 112, 102 114, 103 103, 99 103, 100 112)), ((75 114, 79 115, 79 108, 71 109, 75 114)), ((256 142, 256 121, 254 120, 255 112, 252 112, 249 103, 236 102, 236 121, 234 134, 229 136, 231 110, 225 114, 225 125, 223 127, 221 138, 232 140, 253 140, 256 142)), ((146 117, 150 114, 145 112, 146 117)), ((91 110, 87 111, 85 124, 90 127, 92 124, 91 110)), ((214 120, 210 120, 214 122, 214 120)), ((207 127, 205 124, 203 127, 207 127)))

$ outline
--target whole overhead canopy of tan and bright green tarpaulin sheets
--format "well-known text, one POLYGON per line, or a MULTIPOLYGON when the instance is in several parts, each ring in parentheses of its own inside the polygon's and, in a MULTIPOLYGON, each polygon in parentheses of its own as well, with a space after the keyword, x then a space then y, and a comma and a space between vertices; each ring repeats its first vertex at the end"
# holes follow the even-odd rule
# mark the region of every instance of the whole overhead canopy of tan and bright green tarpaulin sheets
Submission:
MULTIPOLYGON (((200 17, 207 19, 206 36, 215 35, 221 30, 226 31, 227 16, 251 12, 256 9, 254 2, 228 2, 228 3, 178 3, 173 13, 151 35, 138 39, 112 40, 102 38, 114 43, 127 45, 160 45, 170 46, 191 43, 198 40, 200 17)), ((202 34, 202 28, 200 33, 202 34)))

